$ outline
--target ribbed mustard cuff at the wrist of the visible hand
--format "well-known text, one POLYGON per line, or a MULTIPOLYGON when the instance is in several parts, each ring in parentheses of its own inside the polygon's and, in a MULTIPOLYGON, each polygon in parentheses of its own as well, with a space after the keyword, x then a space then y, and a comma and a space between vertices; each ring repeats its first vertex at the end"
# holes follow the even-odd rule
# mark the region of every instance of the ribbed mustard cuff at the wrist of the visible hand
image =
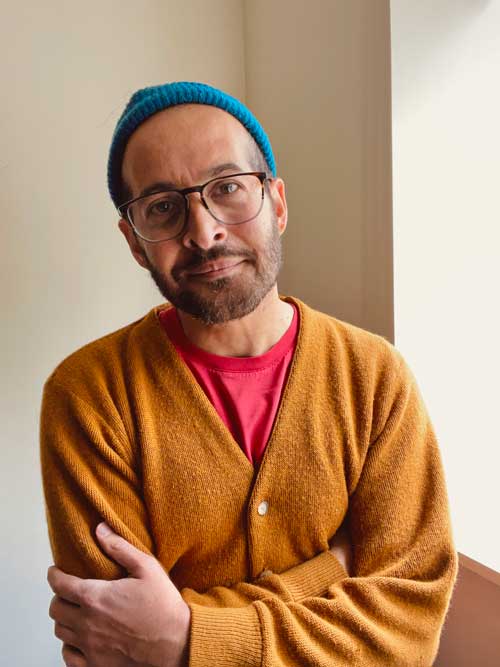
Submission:
POLYGON ((190 603, 189 667, 260 667, 262 636, 253 605, 204 607, 190 603))

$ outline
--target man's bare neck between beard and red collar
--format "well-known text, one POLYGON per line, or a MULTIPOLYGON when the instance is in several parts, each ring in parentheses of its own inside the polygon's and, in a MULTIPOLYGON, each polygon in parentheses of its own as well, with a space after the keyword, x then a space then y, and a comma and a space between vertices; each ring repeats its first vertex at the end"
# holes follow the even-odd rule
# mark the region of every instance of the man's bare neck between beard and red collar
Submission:
POLYGON ((254 311, 239 320, 206 325, 181 310, 177 312, 193 345, 224 357, 265 354, 283 336, 293 318, 293 307, 279 298, 276 286, 254 311))

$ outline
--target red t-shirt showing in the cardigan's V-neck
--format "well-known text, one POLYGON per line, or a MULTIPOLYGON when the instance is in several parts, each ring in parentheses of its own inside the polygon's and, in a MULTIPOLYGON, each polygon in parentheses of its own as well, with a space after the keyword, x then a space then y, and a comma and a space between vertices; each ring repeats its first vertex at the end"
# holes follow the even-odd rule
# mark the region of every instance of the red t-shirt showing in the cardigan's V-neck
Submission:
POLYGON ((288 378, 299 330, 298 310, 293 309, 287 331, 258 357, 223 357, 201 350, 186 337, 175 308, 160 312, 174 347, 254 465, 264 455, 288 378))

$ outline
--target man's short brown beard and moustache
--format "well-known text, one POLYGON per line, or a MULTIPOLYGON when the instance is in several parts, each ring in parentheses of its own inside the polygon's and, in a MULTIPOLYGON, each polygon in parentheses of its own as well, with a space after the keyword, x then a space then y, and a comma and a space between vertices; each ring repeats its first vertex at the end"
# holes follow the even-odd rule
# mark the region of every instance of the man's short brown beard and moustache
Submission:
POLYGON ((144 257, 149 273, 163 297, 179 310, 211 325, 240 319, 253 312, 276 285, 283 262, 283 251, 281 236, 274 220, 270 225, 265 247, 266 253, 261 256, 253 250, 229 244, 215 245, 206 251, 193 250, 189 260, 172 269, 171 277, 159 271, 144 257), (223 276, 194 286, 189 284, 189 279, 183 278, 183 272, 197 269, 206 262, 213 262, 221 257, 243 259, 245 263, 253 266, 253 278, 248 278, 245 269, 240 269, 236 276, 223 276))

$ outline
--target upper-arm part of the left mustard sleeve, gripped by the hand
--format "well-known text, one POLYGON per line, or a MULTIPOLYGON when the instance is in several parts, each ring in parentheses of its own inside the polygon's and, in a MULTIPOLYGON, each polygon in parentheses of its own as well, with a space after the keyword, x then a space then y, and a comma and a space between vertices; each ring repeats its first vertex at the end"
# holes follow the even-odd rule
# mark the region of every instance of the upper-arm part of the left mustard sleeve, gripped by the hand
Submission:
POLYGON ((100 550, 100 521, 146 553, 154 544, 123 426, 100 412, 54 376, 46 382, 40 415, 45 516, 57 567, 78 577, 117 579, 127 573, 100 550))

